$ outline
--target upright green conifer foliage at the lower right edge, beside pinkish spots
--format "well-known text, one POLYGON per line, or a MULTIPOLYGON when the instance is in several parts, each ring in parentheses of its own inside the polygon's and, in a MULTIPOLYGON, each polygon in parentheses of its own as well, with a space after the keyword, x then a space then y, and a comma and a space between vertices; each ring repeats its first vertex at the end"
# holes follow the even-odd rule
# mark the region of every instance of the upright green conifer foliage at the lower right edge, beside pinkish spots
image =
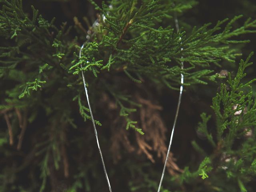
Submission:
POLYGON ((248 138, 248 132, 252 133, 256 123, 256 102, 252 98, 250 86, 256 78, 242 83, 242 78, 246 76, 244 70, 252 64, 249 62, 251 56, 252 54, 246 61, 240 61, 234 78, 228 73, 227 83, 221 84, 220 92, 212 99, 216 129, 210 129, 208 126, 211 116, 201 114, 202 122, 198 124, 198 132, 208 140, 213 152, 207 155, 203 148, 194 142, 194 148, 206 158, 196 172, 191 173, 186 167, 180 176, 181 181, 189 182, 199 174, 202 179, 211 180, 208 184, 205 183, 207 191, 227 191, 234 183, 237 183, 237 188, 233 191, 247 191, 244 183, 255 177, 255 136, 248 138), (224 184, 216 182, 220 178, 224 184))

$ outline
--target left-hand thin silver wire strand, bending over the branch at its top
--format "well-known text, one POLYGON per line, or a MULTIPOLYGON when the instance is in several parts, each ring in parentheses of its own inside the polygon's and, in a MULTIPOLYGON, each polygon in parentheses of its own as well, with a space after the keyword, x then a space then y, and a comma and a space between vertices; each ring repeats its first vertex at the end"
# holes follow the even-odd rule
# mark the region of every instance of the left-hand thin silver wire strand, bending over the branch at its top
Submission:
MULTIPOLYGON (((95 33, 93 33, 92 36, 94 36, 94 34, 95 34, 95 33)), ((92 36, 90 36, 90 38, 91 38, 92 36)), ((81 58, 82 49, 84 48, 84 45, 86 45, 86 44, 90 41, 90 38, 88 38, 88 40, 86 40, 86 42, 84 42, 84 44, 81 46, 80 52, 79 52, 79 58, 81 58)), ((82 64, 81 64, 81 68, 82 68, 82 64)), ((98 145, 98 150, 99 150, 99 152, 100 152, 100 158, 101 158, 101 162, 102 162, 104 174, 105 174, 106 180, 107 180, 107 182, 108 182, 109 191, 112 192, 112 189, 111 189, 111 186, 110 186, 110 182, 109 182, 109 179, 108 179, 108 173, 107 173, 106 166, 105 166, 105 163, 104 163, 104 160, 103 160, 103 155, 102 155, 102 152, 101 152, 101 149, 100 149, 100 143, 99 143, 99 139, 98 139, 98 133, 97 133, 96 126, 95 126, 95 122, 94 122, 94 118, 93 118, 93 115, 92 115, 92 108, 91 108, 90 101, 89 101, 89 96, 88 96, 88 91, 87 91, 87 88, 86 88, 86 82, 85 82, 84 72, 83 72, 83 71, 82 71, 82 77, 83 77, 84 90, 85 90, 85 94, 86 94, 88 106, 89 106, 89 109, 90 109, 90 114, 91 114, 91 118, 92 118, 92 124, 93 124, 93 128, 94 128, 94 134, 95 134, 95 137, 96 137, 96 141, 97 141, 97 145, 98 145)))

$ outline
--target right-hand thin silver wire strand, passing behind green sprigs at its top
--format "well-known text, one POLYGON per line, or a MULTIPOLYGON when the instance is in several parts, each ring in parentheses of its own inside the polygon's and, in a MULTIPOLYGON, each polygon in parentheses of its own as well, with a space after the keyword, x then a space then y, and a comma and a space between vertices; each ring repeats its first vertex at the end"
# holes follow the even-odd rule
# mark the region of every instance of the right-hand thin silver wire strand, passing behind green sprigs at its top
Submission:
MULTIPOLYGON (((175 21, 176 30, 177 30, 177 33, 178 33, 180 28, 179 28, 179 23, 178 23, 178 19, 177 19, 176 14, 174 14, 174 21, 175 21)), ((183 48, 181 48, 181 50, 183 50, 183 48)), ((183 57, 181 57, 181 58, 183 58, 183 57)), ((183 62, 181 62, 181 69, 183 69, 183 68, 184 68, 183 62)), ((170 154, 170 149, 171 149, 171 145, 172 145, 172 138, 173 138, 173 134, 174 134, 174 129, 175 129, 175 126, 176 126, 176 122, 177 122, 177 118, 178 118, 178 114, 179 114, 179 110, 180 110, 180 102, 181 102, 182 91, 183 91, 183 82, 184 82, 184 76, 181 73, 180 74, 180 83, 181 83, 181 85, 180 85, 180 95, 179 95, 178 105, 177 105, 176 114, 175 114, 175 118, 174 118, 174 123, 173 123, 173 127, 172 127, 172 134, 171 134, 171 138, 170 138, 170 143, 169 143, 169 146, 168 146, 168 150, 167 150, 167 154, 166 154, 166 158, 165 158, 165 162, 164 162, 164 169, 163 169, 161 180, 160 180, 160 183, 159 183, 159 186, 158 186, 158 192, 160 192, 162 182, 163 182, 163 178, 164 178, 164 172, 165 172, 165 169, 166 169, 166 164, 167 164, 167 161, 169 159, 169 154, 170 154)))

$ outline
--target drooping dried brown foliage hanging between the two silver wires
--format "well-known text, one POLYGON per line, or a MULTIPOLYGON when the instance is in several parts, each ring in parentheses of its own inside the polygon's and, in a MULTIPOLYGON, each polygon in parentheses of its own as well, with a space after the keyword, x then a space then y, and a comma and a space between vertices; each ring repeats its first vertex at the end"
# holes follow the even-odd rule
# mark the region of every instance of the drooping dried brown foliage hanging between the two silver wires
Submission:
MULTIPOLYGON (((161 159, 164 163, 167 153, 166 135, 169 135, 169 133, 160 114, 162 107, 142 98, 139 94, 136 94, 135 98, 136 102, 142 106, 138 108, 134 119, 138 121, 138 127, 142 128, 145 134, 141 135, 138 132, 125 130, 126 122, 124 118, 120 116, 116 118, 110 112, 109 116, 113 118, 110 139, 113 160, 115 163, 118 162, 122 158, 122 150, 126 150, 129 153, 135 152, 138 155, 146 155, 152 163, 156 162, 156 158, 161 159), (157 157, 154 157, 155 153, 157 157)), ((102 102, 107 104, 108 110, 118 110, 115 102, 107 94, 102 95, 102 102)), ((113 114, 115 113, 113 112, 113 114)), ((170 153, 167 170, 172 175, 176 172, 182 172, 175 161, 173 154, 170 153)))

